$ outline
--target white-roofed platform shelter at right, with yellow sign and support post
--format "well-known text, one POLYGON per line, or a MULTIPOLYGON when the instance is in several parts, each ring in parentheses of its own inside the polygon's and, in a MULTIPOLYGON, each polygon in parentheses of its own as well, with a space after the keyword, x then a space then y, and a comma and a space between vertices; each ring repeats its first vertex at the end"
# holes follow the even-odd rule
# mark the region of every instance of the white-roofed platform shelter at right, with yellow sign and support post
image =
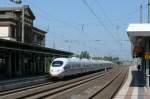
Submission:
POLYGON ((150 24, 130 24, 127 34, 131 42, 133 58, 141 65, 146 86, 150 86, 150 24))

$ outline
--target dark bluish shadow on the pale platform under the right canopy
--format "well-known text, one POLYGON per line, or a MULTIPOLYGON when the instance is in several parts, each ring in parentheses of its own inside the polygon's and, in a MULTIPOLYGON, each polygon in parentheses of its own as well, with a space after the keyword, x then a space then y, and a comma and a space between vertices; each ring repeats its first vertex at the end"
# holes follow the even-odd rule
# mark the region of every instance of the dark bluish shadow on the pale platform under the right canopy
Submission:
POLYGON ((137 70, 133 70, 130 87, 144 87, 144 86, 145 86, 145 80, 144 80, 143 73, 137 70))

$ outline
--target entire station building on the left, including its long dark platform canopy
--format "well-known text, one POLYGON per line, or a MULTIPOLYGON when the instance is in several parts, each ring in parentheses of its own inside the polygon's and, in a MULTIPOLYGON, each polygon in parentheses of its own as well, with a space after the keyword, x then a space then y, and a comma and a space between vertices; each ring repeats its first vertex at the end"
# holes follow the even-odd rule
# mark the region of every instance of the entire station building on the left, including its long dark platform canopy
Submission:
POLYGON ((46 31, 33 26, 29 6, 0 8, 0 79, 41 75, 54 57, 71 52, 45 47, 46 31))

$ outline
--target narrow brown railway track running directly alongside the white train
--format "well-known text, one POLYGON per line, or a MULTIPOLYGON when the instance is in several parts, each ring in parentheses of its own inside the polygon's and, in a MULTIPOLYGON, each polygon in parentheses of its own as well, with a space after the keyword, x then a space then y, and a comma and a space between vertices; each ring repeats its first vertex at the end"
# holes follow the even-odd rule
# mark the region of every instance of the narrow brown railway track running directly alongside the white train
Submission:
POLYGON ((92 73, 92 74, 86 75, 86 76, 81 76, 81 77, 79 77, 77 79, 73 79, 73 80, 69 79, 66 81, 62 80, 59 82, 49 81, 49 82, 45 82, 42 84, 36 84, 36 85, 32 85, 32 86, 27 86, 27 87, 23 87, 23 88, 0 92, 0 99, 12 99, 12 98, 15 99, 15 98, 21 98, 21 97, 37 94, 37 93, 40 93, 41 91, 50 90, 55 87, 63 86, 65 84, 70 84, 70 83, 76 82, 78 80, 87 79, 89 77, 93 77, 93 76, 100 75, 103 73, 105 73, 105 71, 101 71, 98 73, 92 73))

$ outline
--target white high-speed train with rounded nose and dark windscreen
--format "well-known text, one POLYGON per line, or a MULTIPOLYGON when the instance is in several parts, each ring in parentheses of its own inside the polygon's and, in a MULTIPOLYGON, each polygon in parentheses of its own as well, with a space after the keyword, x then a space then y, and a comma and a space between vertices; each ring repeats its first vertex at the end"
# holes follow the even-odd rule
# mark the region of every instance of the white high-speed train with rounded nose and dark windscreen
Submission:
POLYGON ((78 58, 56 58, 51 63, 49 72, 52 77, 64 77, 105 68, 112 68, 112 62, 78 58))

